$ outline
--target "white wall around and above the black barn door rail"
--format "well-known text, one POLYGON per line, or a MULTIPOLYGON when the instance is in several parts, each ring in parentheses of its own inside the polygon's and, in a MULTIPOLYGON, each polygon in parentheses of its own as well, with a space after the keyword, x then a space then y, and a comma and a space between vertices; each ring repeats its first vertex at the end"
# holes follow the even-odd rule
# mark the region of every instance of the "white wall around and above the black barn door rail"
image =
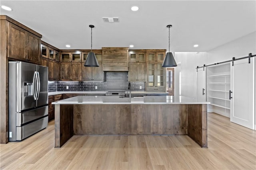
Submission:
MULTIPOLYGON (((235 39, 234 41, 220 45, 207 52, 176 52, 175 60, 181 72, 181 95, 196 98, 196 66, 202 66, 203 64, 214 64, 222 61, 232 60, 232 57, 240 58, 256 54, 256 32, 250 33, 244 37, 235 39)), ((255 63, 256 64, 256 63, 255 63)), ((175 76, 175 95, 179 95, 179 72, 174 69, 175 76)), ((256 72, 255 72, 256 81, 256 72)), ((256 96, 256 83, 255 83, 255 96, 256 96)), ((255 104, 256 111, 256 104, 255 104)), ((255 113, 256 114, 256 113, 255 113)), ((256 115, 255 115, 256 122, 256 115)))

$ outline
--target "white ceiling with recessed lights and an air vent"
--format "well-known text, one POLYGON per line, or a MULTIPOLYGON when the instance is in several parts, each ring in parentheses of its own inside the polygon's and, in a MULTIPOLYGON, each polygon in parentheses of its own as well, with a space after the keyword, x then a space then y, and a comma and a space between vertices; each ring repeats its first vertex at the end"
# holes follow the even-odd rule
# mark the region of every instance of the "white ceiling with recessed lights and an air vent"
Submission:
POLYGON ((1 0, 1 15, 42 34, 58 49, 129 47, 170 51, 209 51, 256 31, 256 1, 194 0, 1 0), (132 6, 139 10, 133 12, 132 6), (102 17, 119 17, 106 23, 102 17), (65 45, 71 45, 67 48, 65 45), (193 47, 198 44, 199 47, 193 47))

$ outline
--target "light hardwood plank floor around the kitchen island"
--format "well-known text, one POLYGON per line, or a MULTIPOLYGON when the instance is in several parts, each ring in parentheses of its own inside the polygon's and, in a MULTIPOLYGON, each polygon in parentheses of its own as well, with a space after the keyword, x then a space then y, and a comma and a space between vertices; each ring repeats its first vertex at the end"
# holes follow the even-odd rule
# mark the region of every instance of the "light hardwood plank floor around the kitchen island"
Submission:
POLYGON ((22 142, 0 145, 0 169, 255 170, 256 131, 208 113, 208 149, 188 136, 73 136, 54 149, 54 121, 22 142))

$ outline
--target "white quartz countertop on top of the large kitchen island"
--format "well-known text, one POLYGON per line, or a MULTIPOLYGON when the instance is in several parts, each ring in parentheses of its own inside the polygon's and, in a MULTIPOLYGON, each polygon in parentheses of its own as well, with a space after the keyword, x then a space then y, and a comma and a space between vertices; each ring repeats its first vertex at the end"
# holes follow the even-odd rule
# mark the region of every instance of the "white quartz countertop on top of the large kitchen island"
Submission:
POLYGON ((119 96, 76 96, 52 104, 210 104, 210 102, 202 102, 186 96, 143 96, 131 99, 119 96))

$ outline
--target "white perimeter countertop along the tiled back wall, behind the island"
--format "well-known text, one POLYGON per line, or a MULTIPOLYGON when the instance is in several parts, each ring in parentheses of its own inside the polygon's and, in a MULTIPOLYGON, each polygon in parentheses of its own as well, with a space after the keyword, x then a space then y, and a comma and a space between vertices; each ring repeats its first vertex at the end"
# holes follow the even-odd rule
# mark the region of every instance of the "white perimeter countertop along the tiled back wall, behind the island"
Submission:
MULTIPOLYGON (((114 90, 112 90, 112 91, 114 91, 114 90)), ((98 92, 49 92, 48 96, 53 96, 53 95, 57 95, 57 94, 106 94, 106 92, 104 92, 104 91, 100 91, 100 92, 99 91, 98 92)), ((168 92, 132 92, 132 94, 167 94, 167 93, 168 92)))

